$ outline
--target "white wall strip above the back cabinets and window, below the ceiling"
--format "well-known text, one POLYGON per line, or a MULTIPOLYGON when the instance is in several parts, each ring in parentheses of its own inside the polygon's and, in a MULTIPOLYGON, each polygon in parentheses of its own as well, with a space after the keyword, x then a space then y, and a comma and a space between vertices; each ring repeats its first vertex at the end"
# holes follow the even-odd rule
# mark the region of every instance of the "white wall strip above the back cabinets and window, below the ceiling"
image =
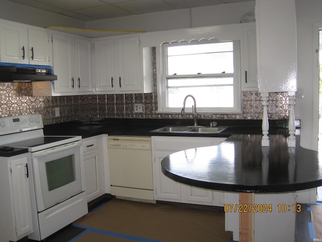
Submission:
POLYGON ((145 30, 147 32, 191 27, 237 24, 255 8, 255 1, 224 4, 158 13, 141 14, 87 22, 87 28, 111 30, 145 30))

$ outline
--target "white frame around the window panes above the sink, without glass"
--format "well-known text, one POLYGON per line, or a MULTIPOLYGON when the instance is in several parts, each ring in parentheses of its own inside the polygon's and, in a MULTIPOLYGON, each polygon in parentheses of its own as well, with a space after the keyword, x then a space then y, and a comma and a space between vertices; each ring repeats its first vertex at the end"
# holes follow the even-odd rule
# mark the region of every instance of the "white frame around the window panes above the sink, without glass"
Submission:
MULTIPOLYGON (((167 113, 180 113, 182 107, 174 108, 168 107, 168 95, 167 95, 167 78, 178 78, 178 77, 196 77, 195 75, 167 75, 167 46, 170 44, 174 45, 186 45, 186 44, 206 44, 206 43, 218 43, 216 38, 202 39, 199 42, 191 41, 180 41, 175 43, 163 43, 160 48, 156 50, 156 61, 157 66, 160 67, 159 75, 157 75, 157 100, 158 108, 157 112, 167 112, 167 113)), ((241 77, 240 77, 240 41, 230 40, 222 42, 233 42, 233 107, 200 107, 198 106, 198 100, 196 100, 197 112, 198 113, 241 113, 241 77)), ((229 75, 230 74, 226 74, 229 75)), ((213 76, 225 76, 225 74, 199 74, 198 77, 213 77, 213 76)), ((183 103, 184 100, 182 100, 183 103)), ((192 110, 187 109, 187 113, 192 112, 192 110)))

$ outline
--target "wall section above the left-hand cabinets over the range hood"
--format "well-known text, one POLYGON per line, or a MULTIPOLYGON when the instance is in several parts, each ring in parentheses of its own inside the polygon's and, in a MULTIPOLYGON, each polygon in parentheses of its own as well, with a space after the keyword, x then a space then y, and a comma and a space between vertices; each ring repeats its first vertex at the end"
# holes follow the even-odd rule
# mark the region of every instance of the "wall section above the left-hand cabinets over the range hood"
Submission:
POLYGON ((8 2, 6 0, 0 0, 0 19, 6 19, 37 27, 57 25, 85 28, 86 26, 85 22, 80 20, 8 2))

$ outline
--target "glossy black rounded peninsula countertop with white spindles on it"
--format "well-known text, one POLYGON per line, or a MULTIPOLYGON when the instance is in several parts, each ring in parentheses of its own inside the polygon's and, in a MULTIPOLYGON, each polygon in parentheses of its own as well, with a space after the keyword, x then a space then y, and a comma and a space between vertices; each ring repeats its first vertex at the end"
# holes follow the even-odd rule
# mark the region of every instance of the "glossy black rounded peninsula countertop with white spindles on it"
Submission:
POLYGON ((287 136, 231 135, 218 146, 176 152, 165 157, 162 171, 187 185, 230 192, 281 193, 322 186, 318 152, 287 147, 287 136))

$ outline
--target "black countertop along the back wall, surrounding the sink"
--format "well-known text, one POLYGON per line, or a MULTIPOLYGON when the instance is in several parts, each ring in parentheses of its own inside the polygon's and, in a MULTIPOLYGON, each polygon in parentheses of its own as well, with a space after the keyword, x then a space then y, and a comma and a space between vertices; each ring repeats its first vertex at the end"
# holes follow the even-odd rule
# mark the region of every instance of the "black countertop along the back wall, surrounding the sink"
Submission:
MULTIPOLYGON (((209 126, 216 121, 218 126, 229 126, 220 134, 180 134, 180 136, 229 137, 231 134, 261 134, 262 120, 246 119, 199 119, 198 125, 209 126)), ((287 134, 287 120, 270 120, 270 134, 287 134)), ((299 123, 299 122, 298 122, 299 123)), ((165 126, 188 126, 193 119, 162 118, 85 118, 71 122, 44 126, 45 135, 81 135, 82 138, 108 134, 117 136, 178 136, 178 134, 150 133, 165 126)))

